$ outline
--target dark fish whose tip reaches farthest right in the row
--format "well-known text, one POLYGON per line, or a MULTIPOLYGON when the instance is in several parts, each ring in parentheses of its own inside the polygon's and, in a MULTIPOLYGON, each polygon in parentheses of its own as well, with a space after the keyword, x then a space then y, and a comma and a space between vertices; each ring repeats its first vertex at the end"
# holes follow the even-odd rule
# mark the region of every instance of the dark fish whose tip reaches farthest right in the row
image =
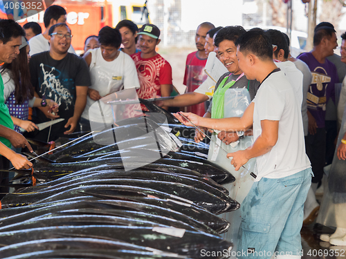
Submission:
POLYGON ((154 195, 156 197, 167 197, 167 195, 174 196, 180 200, 185 200, 185 202, 197 204, 198 206, 203 207, 212 213, 224 213, 226 211, 239 208, 239 203, 226 195, 226 197, 219 198, 212 193, 208 193, 207 191, 201 189, 195 189, 186 184, 127 178, 91 179, 68 186, 62 186, 60 188, 53 187, 48 190, 39 190, 37 193, 8 193, 8 195, 1 200, 1 203, 5 206, 11 206, 11 204, 18 204, 20 202, 30 204, 34 202, 43 202, 44 200, 48 201, 49 198, 53 198, 56 193, 61 193, 68 190, 71 190, 73 193, 73 190, 75 190, 77 187, 91 186, 95 184, 100 186, 111 186, 111 184, 113 184, 115 185, 114 188, 117 188, 117 186, 135 186, 136 188, 138 187, 140 189, 145 189, 145 193, 150 191, 150 195, 154 195))

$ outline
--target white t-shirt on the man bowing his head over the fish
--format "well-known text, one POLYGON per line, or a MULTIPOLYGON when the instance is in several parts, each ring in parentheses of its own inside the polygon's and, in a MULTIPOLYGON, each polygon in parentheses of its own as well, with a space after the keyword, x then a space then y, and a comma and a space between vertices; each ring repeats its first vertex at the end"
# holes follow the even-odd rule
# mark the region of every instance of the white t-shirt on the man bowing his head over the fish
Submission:
MULTIPOLYGON (((91 86, 89 88, 97 90, 100 96, 104 97, 109 93, 116 93, 122 89, 140 88, 137 69, 134 60, 125 52, 120 51, 113 61, 105 61, 100 48, 88 50, 91 52, 91 63, 89 66, 91 86)), ((86 106, 82 113, 82 118, 93 122, 104 122, 99 113, 89 113, 89 108, 93 101, 89 96, 86 98, 86 106), (89 117, 91 115, 91 117, 89 117)), ((102 102, 100 102, 102 103, 102 102)), ((113 112, 109 105, 102 105, 102 113, 105 122, 113 123, 113 112)))

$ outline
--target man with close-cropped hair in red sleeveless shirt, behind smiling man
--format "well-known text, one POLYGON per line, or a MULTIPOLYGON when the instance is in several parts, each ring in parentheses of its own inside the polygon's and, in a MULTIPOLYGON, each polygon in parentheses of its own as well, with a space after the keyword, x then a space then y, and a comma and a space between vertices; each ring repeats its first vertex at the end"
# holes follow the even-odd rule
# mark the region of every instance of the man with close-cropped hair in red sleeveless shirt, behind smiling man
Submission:
MULTIPOLYGON (((208 56, 204 50, 204 45, 206 44, 208 30, 213 28, 215 26, 208 21, 199 24, 197 27, 195 37, 197 51, 190 53, 186 59, 183 84, 188 86, 187 92, 193 92, 206 79, 204 67, 206 66, 208 56)), ((206 113, 203 103, 188 106, 188 112, 195 113, 199 116, 203 116, 206 113)))

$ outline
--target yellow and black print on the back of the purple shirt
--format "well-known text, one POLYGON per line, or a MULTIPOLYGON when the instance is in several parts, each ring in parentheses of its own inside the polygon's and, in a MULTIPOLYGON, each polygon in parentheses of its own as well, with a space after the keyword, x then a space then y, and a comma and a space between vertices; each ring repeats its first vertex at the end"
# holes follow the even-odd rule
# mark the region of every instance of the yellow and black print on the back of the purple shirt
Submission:
POLYGON ((307 107, 312 110, 322 108, 322 111, 326 110, 327 105, 327 87, 331 82, 330 75, 327 75, 325 68, 317 66, 311 71, 312 80, 307 93, 307 107))

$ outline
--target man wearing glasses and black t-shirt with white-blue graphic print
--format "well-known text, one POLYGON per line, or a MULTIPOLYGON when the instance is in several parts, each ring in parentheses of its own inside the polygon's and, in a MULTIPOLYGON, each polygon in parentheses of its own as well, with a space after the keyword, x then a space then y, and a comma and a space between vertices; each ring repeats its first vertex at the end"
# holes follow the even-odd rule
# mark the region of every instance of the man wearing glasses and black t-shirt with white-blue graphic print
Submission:
POLYGON ((57 23, 49 29, 50 50, 33 55, 30 59, 31 83, 42 99, 53 99, 59 104, 57 115, 48 108, 36 110, 35 123, 64 118, 35 133, 37 140, 49 142, 73 133, 86 104, 86 92, 91 85, 89 68, 82 57, 68 52, 71 46, 71 30, 66 23, 57 23))

